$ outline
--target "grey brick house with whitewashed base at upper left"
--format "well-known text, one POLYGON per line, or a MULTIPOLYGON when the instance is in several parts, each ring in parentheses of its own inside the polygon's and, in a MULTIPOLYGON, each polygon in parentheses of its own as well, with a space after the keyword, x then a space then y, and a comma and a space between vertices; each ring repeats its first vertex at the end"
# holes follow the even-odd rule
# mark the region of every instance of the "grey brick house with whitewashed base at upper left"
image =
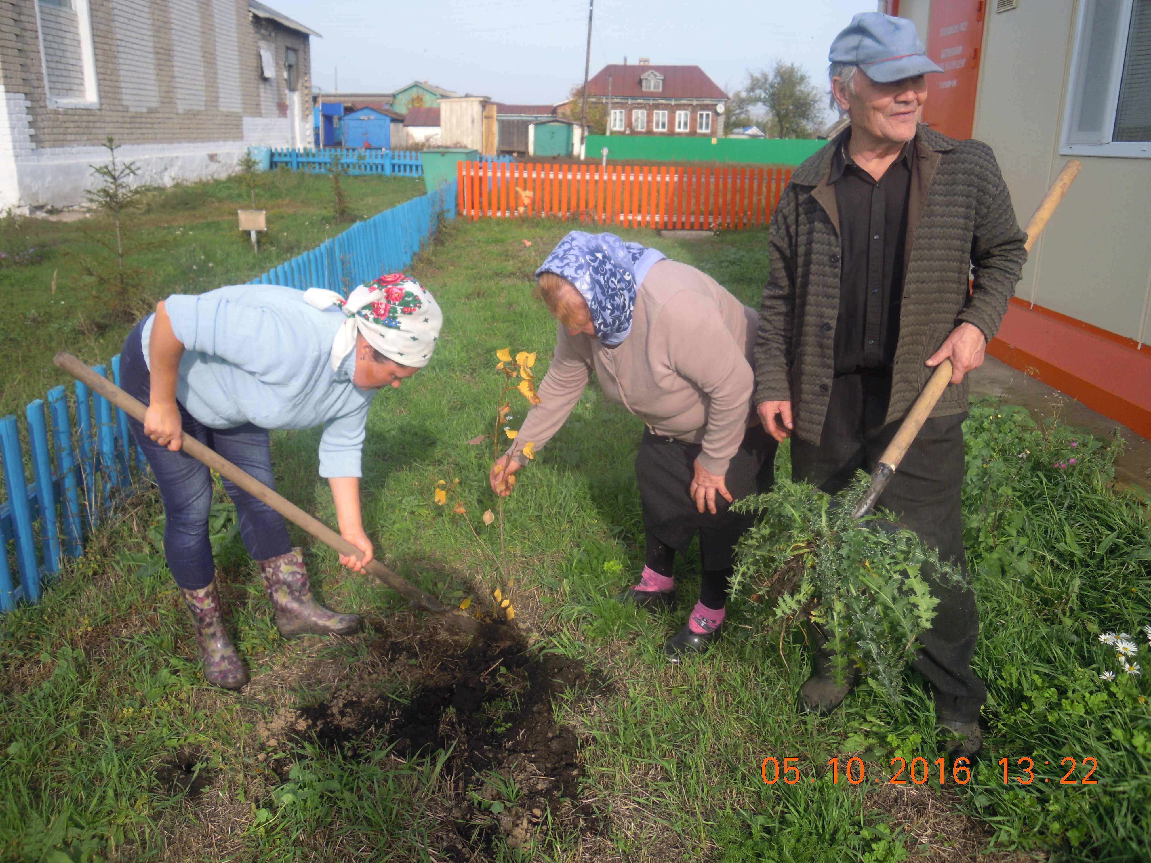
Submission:
POLYGON ((109 135, 159 185, 308 146, 311 36, 257 0, 0 0, 0 209, 79 204, 109 135))

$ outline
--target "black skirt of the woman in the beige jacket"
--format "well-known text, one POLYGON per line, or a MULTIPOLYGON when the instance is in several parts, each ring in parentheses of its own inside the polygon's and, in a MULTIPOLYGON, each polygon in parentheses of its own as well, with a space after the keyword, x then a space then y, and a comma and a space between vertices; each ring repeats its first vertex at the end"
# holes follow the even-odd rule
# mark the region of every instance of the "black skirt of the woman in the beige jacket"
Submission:
MULTIPOLYGON (((765 492, 775 482, 776 440, 755 423, 747 429, 739 450, 731 459, 724 484, 731 496, 739 501, 748 495, 765 492)), ((715 532, 716 539, 724 541, 707 543, 709 557, 724 559, 704 560, 706 570, 722 570, 731 566, 731 549, 752 522, 754 514, 734 513, 729 503, 716 495, 716 513, 706 509, 700 512, 689 495, 695 475, 695 458, 703 448, 698 443, 684 443, 672 437, 660 437, 643 429, 639 452, 635 453, 635 478, 640 486, 645 529, 670 545, 679 553, 687 553, 696 530, 715 532), (727 541, 730 539, 730 542, 727 541), (723 551, 712 549, 724 548, 723 551)))

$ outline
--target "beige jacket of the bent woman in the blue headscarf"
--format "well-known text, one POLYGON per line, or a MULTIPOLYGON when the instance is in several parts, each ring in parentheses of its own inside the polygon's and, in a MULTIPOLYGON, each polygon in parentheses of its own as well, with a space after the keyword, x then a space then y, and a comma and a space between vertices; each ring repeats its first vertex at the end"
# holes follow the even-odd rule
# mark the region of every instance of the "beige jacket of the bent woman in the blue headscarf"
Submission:
POLYGON ((556 353, 540 383, 540 404, 509 450, 542 449, 579 402, 594 371, 609 402, 626 407, 653 434, 701 443, 699 463, 724 475, 747 427, 757 421, 752 349, 759 315, 710 276, 663 260, 635 291, 632 331, 604 348, 561 326, 556 353))

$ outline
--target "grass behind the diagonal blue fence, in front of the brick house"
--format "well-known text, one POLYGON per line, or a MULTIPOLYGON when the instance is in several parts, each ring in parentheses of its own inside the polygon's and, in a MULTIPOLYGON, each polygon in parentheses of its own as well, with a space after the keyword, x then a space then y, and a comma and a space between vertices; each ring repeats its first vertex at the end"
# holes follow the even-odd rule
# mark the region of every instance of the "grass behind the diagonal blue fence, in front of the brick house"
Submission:
MULTIPOLYGON (((125 223, 129 244, 142 246, 132 262, 150 274, 140 313, 170 293, 200 293, 244 283, 314 249, 348 228, 333 217, 331 180, 277 170, 258 175, 257 207, 267 211, 268 230, 253 253, 249 235, 236 229, 236 209, 251 208, 241 176, 158 190, 125 223)), ((350 219, 366 219, 424 193, 420 180, 343 177, 350 219)), ((94 365, 120 352, 131 328, 109 322, 99 292, 85 282, 82 261, 99 257, 92 237, 109 237, 101 215, 81 221, 0 219, 0 251, 35 250, 37 260, 0 261, 6 326, 0 331, 0 415, 22 415, 24 405, 64 382, 52 356, 67 348, 94 365), (53 281, 55 290, 53 291, 53 281)))

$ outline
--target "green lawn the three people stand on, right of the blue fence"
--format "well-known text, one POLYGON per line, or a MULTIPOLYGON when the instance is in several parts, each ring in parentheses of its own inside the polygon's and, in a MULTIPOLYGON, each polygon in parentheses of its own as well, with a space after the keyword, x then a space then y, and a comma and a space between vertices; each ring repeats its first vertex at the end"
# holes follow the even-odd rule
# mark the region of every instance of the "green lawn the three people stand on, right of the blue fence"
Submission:
MULTIPOLYGON (((1118 557, 1146 536, 1145 517, 1136 502, 1090 476, 1084 487, 1066 484, 1064 472, 1055 479, 1065 484, 1028 486, 1011 473, 1015 430, 981 426, 992 422, 986 410, 973 419, 973 435, 994 458, 975 448, 969 453, 980 467, 969 463, 968 524, 984 621, 976 665, 992 693, 992 732, 978 787, 959 797, 950 789, 939 797, 930 785, 872 784, 881 770, 890 772, 897 753, 936 757, 930 694, 914 674, 900 705, 863 687, 830 719, 800 716, 794 697, 808 667, 802 640, 740 606, 706 659, 678 669, 665 663, 660 648, 691 608, 695 562, 679 564, 686 603, 674 614, 649 617, 610 598, 642 565, 632 469, 641 425, 605 404, 595 385, 504 504, 510 579, 501 575, 473 534, 498 548, 497 526, 480 519, 495 509, 486 479, 491 450, 489 442, 466 442, 491 428, 502 380, 497 349, 539 351, 535 369, 546 371, 555 324, 531 297, 531 275, 570 227, 445 227, 413 267, 444 310, 435 361, 398 391, 380 395, 365 448, 365 524, 380 553, 426 589, 479 596, 500 587, 539 649, 585 659, 609 683, 594 697, 556 698, 557 720, 579 735, 581 797, 601 815, 602 833, 581 835, 557 820, 526 850, 497 838, 494 858, 894 863, 914 849, 912 835, 924 824, 937 851, 950 846, 948 853, 971 858, 976 848, 986 850, 986 838, 981 824, 954 815, 962 809, 991 825, 1000 849, 1017 843, 1059 849, 1069 860, 1130 860, 1130 842, 1148 831, 1151 758, 1139 749, 1146 736, 1134 738, 1146 728, 1146 705, 1091 680, 1091 663, 1104 657, 1089 627, 1134 634, 1135 624, 1151 623, 1142 598, 1151 590, 1145 562, 1138 570, 1142 558, 1131 566, 1118 557), (465 515, 433 502, 439 480, 457 479, 465 515), (994 492, 1004 488, 1012 495, 994 492), (1050 501, 1045 514, 1043 501, 1050 501), (1027 512, 1016 525, 1020 507, 1027 512), (989 520, 988 512, 998 514, 989 520), (1045 533, 1055 515, 1076 543, 1045 533), (1115 549, 1113 540, 1107 557, 1102 541, 1120 526, 1123 544, 1115 549), (1034 539, 1028 550, 1008 535, 1034 539), (1030 568, 1019 572, 1019 562, 1030 568), (1090 701, 1100 690, 1105 709, 1090 701), (1083 711, 1074 707, 1080 702, 1083 711), (1130 736, 1112 740, 1110 728, 1130 736), (1061 757, 1064 750, 1080 759, 1096 755, 1100 785, 1050 792, 996 785, 992 758, 1000 753, 1061 757), (843 773, 856 751, 868 771, 857 788, 843 773), (834 755, 841 758, 838 785, 825 776, 834 755), (767 756, 799 758, 802 781, 765 786, 767 756), (942 810, 952 819, 940 820, 942 810)), ((764 232, 684 243, 624 234, 703 266, 745 301, 755 300, 764 232)), ((512 405, 510 425, 518 426, 526 403, 517 396, 512 405)), ((330 524, 318 440, 317 430, 276 435, 277 483, 330 524)), ((786 448, 779 464, 786 465, 786 448)), ((224 536, 220 579, 253 681, 238 695, 201 686, 190 624, 166 571, 147 563, 154 557, 147 533, 159 518, 154 498, 143 497, 40 605, 0 620, 0 857, 60 863, 64 857, 46 856, 54 849, 68 860, 429 860, 429 837, 449 819, 448 782, 472 777, 445 776, 437 757, 403 763, 383 750, 349 757, 282 740, 267 746, 267 728, 285 710, 375 667, 375 636, 283 642, 253 565, 235 537, 224 536), (166 792, 154 772, 181 749, 198 750, 213 770, 212 785, 193 800, 166 792), (269 770, 281 755, 295 761, 289 776, 269 770)), ((313 548, 310 559, 321 597, 334 606, 360 610, 381 628, 410 619, 374 581, 341 571, 333 552, 313 548)), ((384 667, 373 680, 403 698, 402 671, 384 667)))

